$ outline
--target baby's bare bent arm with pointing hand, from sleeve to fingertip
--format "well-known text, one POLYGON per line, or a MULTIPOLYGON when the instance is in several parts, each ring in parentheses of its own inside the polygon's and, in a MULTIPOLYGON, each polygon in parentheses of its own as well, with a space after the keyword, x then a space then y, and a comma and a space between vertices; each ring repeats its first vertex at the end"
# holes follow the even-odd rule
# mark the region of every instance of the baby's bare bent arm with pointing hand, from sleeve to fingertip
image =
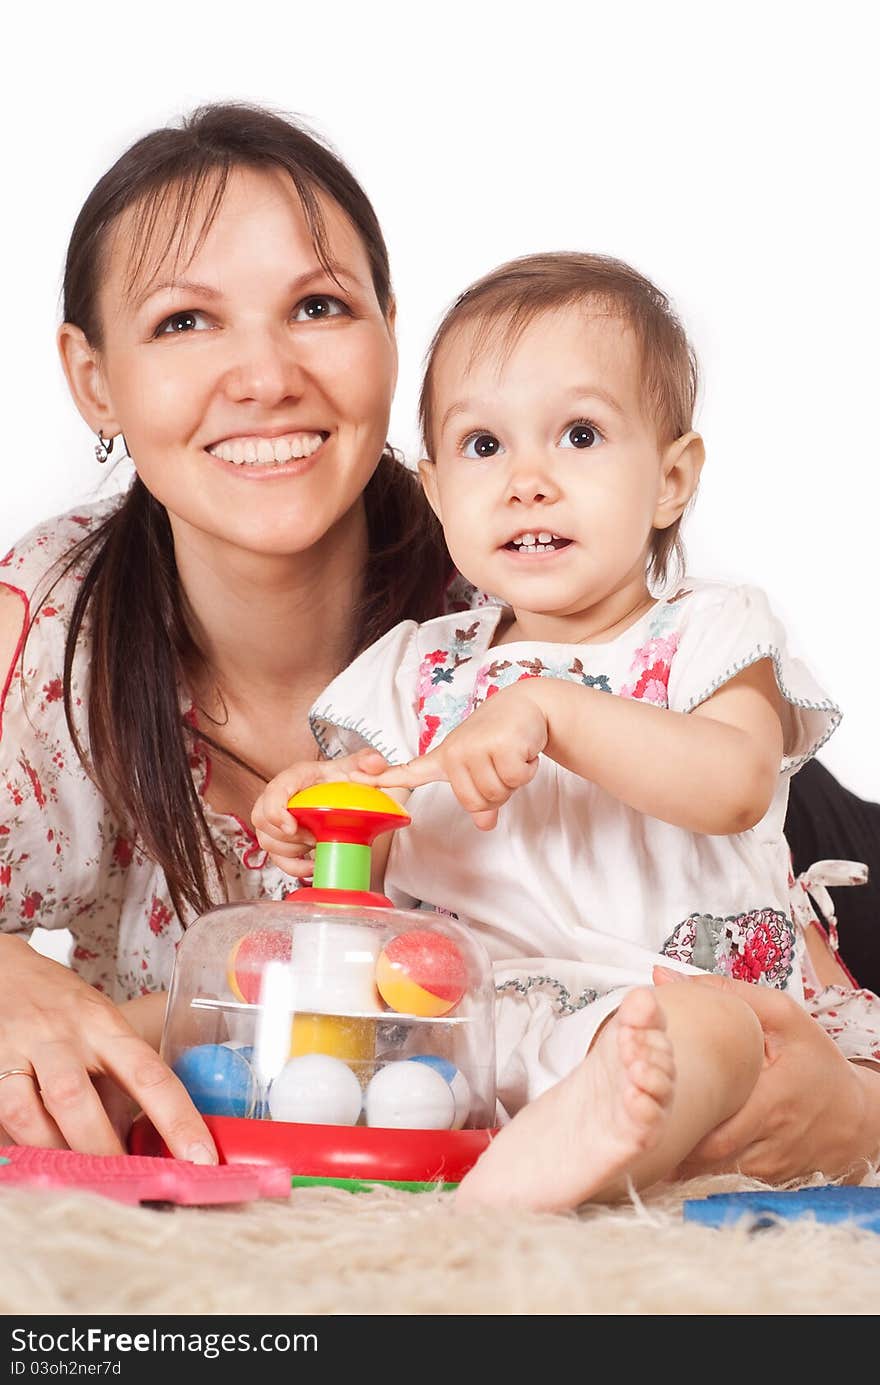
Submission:
POLYGON ((694 832, 743 832, 773 798, 780 712, 769 659, 689 713, 561 679, 521 679, 486 699, 437 751, 373 783, 414 788, 448 780, 477 827, 489 828, 545 753, 649 817, 694 832))

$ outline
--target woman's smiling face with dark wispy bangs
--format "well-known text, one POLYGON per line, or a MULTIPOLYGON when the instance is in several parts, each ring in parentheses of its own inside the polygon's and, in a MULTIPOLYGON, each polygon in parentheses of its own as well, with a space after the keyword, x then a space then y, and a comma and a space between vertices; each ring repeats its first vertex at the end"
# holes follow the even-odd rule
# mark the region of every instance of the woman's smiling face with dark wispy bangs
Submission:
POLYGON ((183 253, 134 284, 137 209, 111 233, 93 389, 104 432, 125 434, 177 540, 188 528, 252 553, 303 553, 351 511, 381 456, 392 324, 358 231, 319 202, 335 278, 280 170, 234 169, 204 241, 195 215, 183 253))

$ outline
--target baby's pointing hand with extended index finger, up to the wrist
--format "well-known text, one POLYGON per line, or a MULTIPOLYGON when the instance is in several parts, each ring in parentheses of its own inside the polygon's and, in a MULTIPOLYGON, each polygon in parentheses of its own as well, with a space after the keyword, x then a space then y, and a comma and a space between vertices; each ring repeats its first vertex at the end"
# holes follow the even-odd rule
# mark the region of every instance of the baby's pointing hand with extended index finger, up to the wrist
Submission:
MULTIPOLYGON (((495 692, 467 720, 450 731, 435 751, 407 765, 369 776, 377 788, 417 788, 448 783, 474 819, 489 831, 510 795, 538 773, 538 756, 547 744, 547 719, 522 679, 495 692)), ((358 774, 366 781, 366 776, 358 774)))

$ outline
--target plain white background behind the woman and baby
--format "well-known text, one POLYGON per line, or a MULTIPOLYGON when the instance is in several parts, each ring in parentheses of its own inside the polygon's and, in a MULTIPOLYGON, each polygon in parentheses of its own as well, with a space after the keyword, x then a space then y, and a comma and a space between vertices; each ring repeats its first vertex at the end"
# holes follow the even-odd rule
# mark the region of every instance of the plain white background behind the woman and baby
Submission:
POLYGON ((83 501, 55 360, 76 212, 123 147, 211 100, 299 115, 363 181, 399 301, 391 439, 493 265, 578 248, 665 288, 701 359, 694 575, 764 586, 880 798, 877 105, 868 3, 30 6, 4 21, 0 548, 83 501))

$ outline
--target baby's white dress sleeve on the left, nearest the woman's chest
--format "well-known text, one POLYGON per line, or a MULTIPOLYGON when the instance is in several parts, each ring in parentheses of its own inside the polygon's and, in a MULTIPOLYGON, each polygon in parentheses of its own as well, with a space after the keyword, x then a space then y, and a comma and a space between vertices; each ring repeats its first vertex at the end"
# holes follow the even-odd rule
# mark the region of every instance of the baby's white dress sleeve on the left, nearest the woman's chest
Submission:
POLYGON ((309 726, 327 759, 371 745, 389 765, 419 753, 419 625, 402 620, 324 688, 309 726))

